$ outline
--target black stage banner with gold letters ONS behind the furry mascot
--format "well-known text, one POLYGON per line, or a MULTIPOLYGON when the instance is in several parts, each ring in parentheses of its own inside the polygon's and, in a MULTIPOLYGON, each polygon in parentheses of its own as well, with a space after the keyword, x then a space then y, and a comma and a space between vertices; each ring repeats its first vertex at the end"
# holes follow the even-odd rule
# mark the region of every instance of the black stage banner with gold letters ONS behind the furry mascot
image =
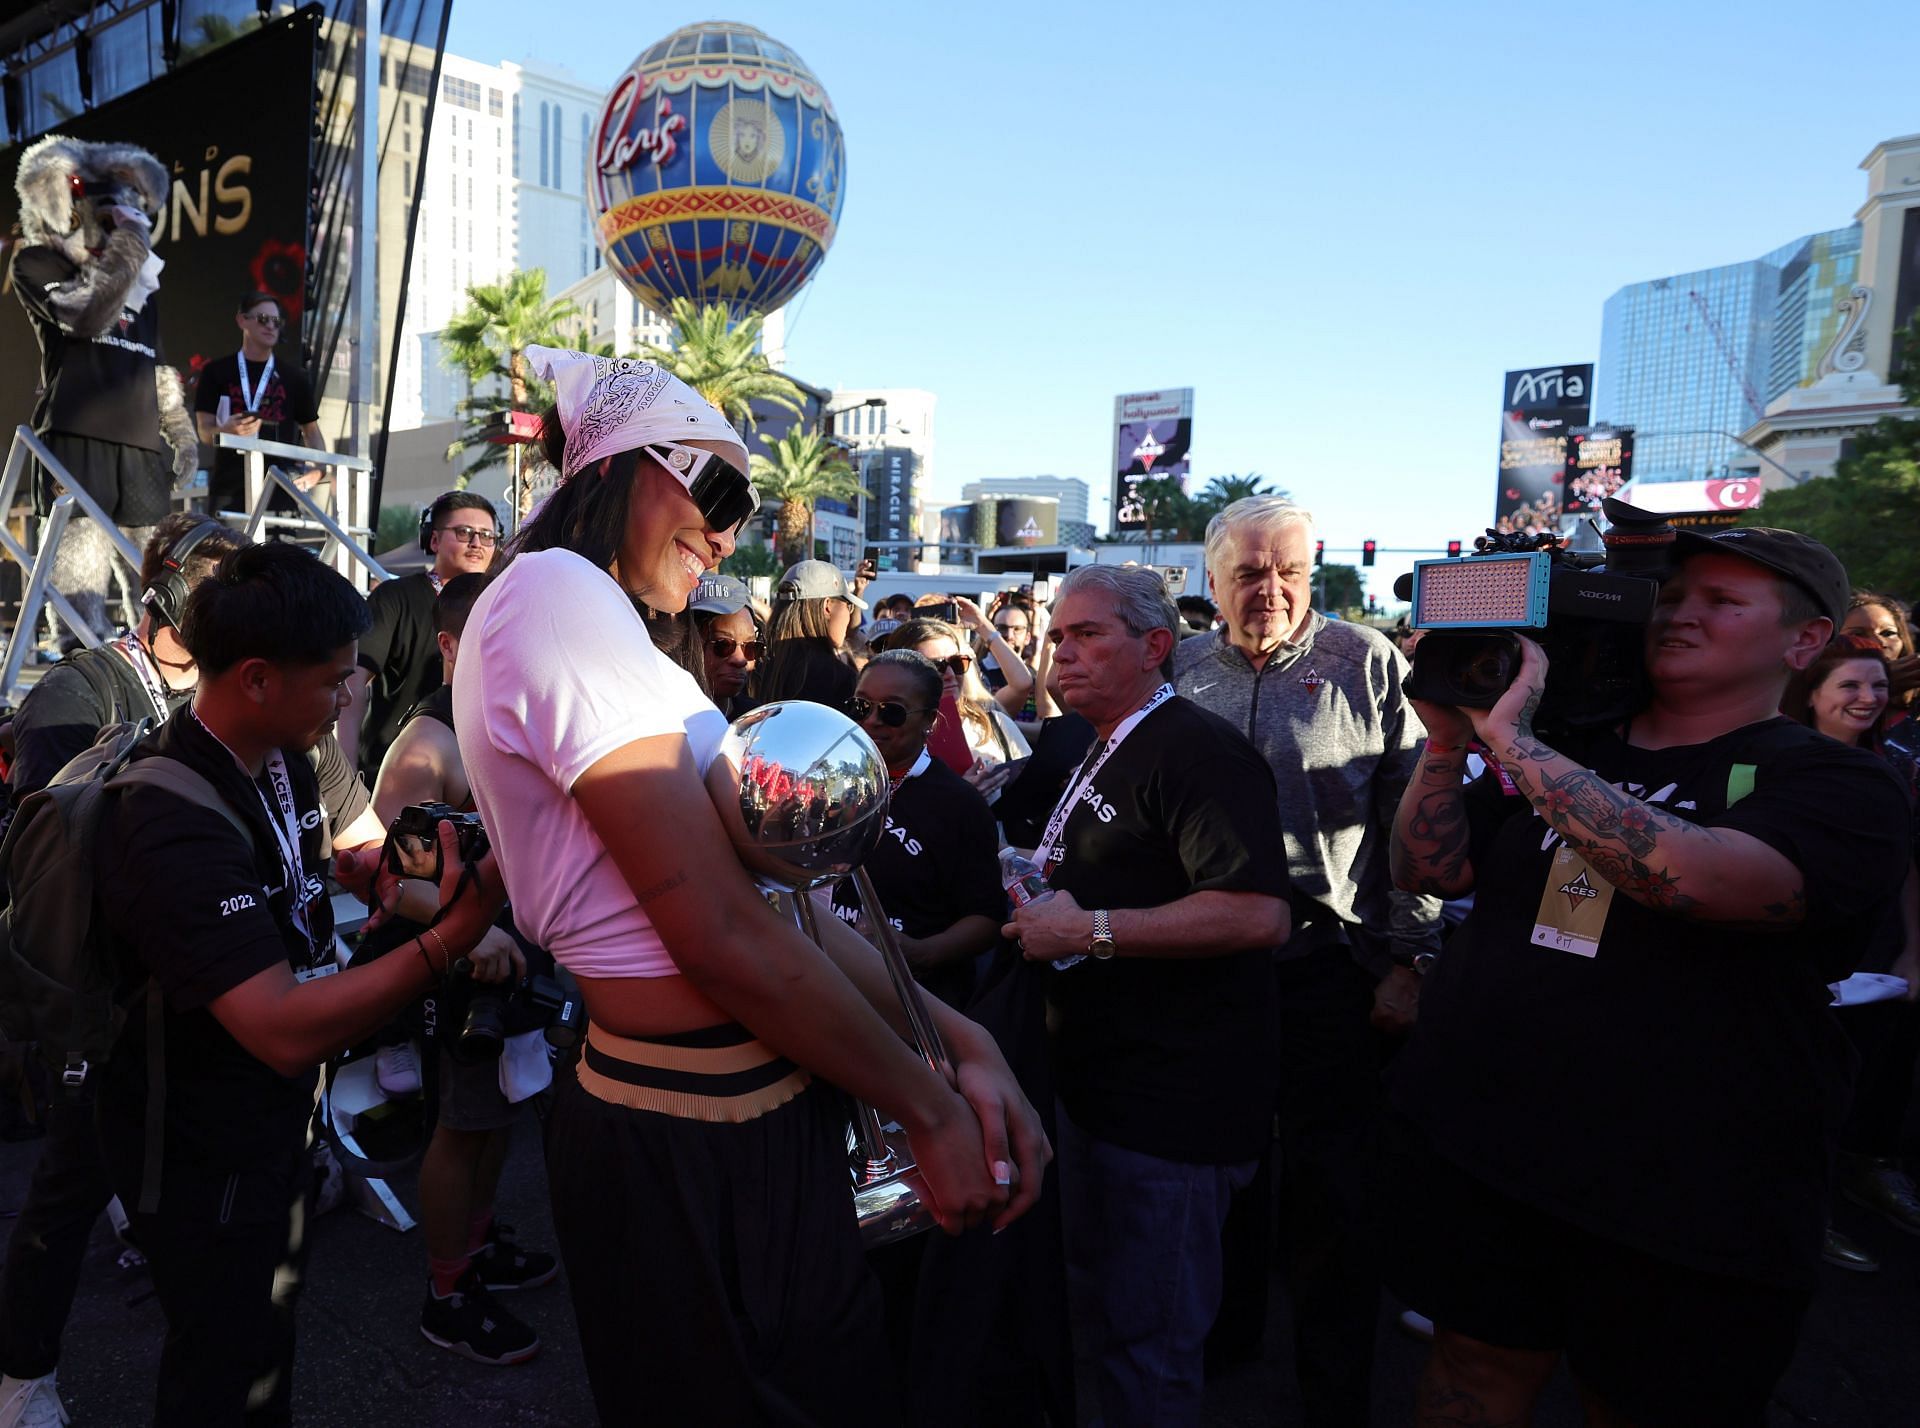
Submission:
MULTIPOLYGON (((180 65, 56 132, 148 150, 173 178, 154 226, 161 357, 188 384, 240 347, 240 296, 269 292, 286 315, 278 361, 305 370, 307 182, 319 12, 307 10, 180 65), (240 100, 244 96, 244 102, 240 100)), ((31 140, 29 140, 31 142, 31 140)), ((25 144, 0 152, 0 428, 31 422, 40 349, 13 294, 25 144)), ((319 374, 313 386, 319 390, 319 374)))

